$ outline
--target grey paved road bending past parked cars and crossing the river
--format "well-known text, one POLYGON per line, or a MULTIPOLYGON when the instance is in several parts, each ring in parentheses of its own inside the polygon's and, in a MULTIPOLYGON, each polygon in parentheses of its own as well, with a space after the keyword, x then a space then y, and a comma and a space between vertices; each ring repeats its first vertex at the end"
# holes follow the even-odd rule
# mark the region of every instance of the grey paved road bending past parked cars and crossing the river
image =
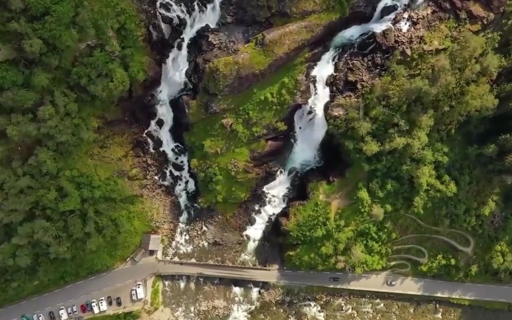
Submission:
POLYGON ((278 284, 306 285, 365 290, 388 293, 456 297, 472 300, 486 300, 512 303, 512 286, 456 283, 434 279, 412 278, 386 272, 373 272, 353 275, 342 272, 292 271, 283 269, 255 269, 239 266, 178 263, 169 261, 143 260, 138 264, 127 265, 104 272, 89 279, 62 287, 53 292, 28 297, 14 305, 0 308, 0 319, 20 319, 24 313, 32 315, 38 311, 48 315, 50 310, 68 305, 80 305, 86 300, 102 296, 122 295, 124 305, 129 304, 130 288, 136 281, 153 274, 197 275, 212 278, 240 279, 278 284), (329 278, 339 278, 330 282, 329 278), (395 280, 395 286, 388 286, 388 280, 395 280))

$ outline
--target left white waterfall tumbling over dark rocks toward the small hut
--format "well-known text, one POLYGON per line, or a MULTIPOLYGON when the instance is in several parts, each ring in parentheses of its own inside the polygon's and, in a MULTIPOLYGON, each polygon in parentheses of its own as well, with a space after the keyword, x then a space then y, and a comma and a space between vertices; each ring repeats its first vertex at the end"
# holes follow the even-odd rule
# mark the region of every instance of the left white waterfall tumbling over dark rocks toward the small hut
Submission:
MULTIPOLYGON (((206 8, 196 2, 194 4, 194 11, 188 14, 184 5, 177 5, 170 0, 158 0, 157 10, 159 13, 160 24, 164 30, 165 35, 168 37, 170 28, 165 25, 161 16, 165 15, 173 19, 173 22, 177 24, 179 18, 186 21, 186 27, 183 30, 181 46, 175 46, 170 51, 169 57, 165 64, 162 66, 162 77, 160 87, 157 90, 157 116, 151 121, 150 127, 147 132, 151 132, 157 138, 162 141, 161 151, 167 154, 169 163, 165 169, 166 180, 162 181, 164 184, 171 184, 173 182, 173 176, 176 179, 175 194, 178 197, 182 215, 180 217, 180 223, 176 230, 176 237, 171 245, 171 254, 175 251, 178 252, 189 252, 192 247, 188 240, 186 222, 189 214, 191 213, 190 204, 188 202, 188 195, 194 193, 196 186, 194 180, 191 179, 188 167, 188 155, 184 151, 183 146, 173 140, 170 134, 170 129, 173 126, 173 111, 170 108, 169 101, 177 97, 181 90, 185 87, 186 70, 188 69, 188 50, 187 46, 190 40, 196 35, 197 31, 202 27, 209 25, 215 27, 220 18, 220 3, 222 0, 214 0, 213 3, 208 4, 206 8), (163 120, 163 125, 158 125, 158 120, 163 120), (178 164, 181 170, 173 167, 172 163, 178 164)), ((153 143, 150 140, 150 145, 153 147, 153 143)))

